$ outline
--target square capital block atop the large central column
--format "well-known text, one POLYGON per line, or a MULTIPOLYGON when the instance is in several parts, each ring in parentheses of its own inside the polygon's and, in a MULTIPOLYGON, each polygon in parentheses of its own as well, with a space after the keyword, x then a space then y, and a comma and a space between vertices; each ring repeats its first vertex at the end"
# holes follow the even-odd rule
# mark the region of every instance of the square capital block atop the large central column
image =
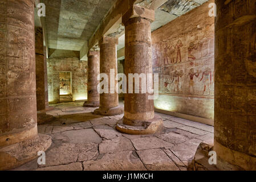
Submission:
POLYGON ((126 13, 123 14, 122 23, 127 23, 131 18, 143 18, 153 22, 155 21, 155 11, 138 5, 133 5, 128 11, 126 11, 126 13))

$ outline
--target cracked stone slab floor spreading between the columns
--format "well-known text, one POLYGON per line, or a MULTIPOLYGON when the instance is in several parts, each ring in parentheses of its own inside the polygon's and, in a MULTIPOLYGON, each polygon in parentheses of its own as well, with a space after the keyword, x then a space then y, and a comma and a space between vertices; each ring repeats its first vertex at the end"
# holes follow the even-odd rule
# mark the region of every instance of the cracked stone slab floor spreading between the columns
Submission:
POLYGON ((153 135, 128 135, 115 130, 123 115, 94 115, 83 102, 51 105, 56 119, 38 126, 52 137, 46 165, 37 160, 14 170, 186 170, 202 142, 213 143, 213 127, 160 114, 164 129, 153 135))

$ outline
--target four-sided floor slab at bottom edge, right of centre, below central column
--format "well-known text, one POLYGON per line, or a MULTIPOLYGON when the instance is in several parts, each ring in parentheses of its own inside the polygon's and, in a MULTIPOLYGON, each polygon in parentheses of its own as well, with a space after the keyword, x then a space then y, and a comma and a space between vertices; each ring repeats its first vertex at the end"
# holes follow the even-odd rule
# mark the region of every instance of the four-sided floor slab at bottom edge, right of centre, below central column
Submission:
POLYGON ((137 154, 148 170, 179 171, 176 164, 159 148, 137 151, 137 154))

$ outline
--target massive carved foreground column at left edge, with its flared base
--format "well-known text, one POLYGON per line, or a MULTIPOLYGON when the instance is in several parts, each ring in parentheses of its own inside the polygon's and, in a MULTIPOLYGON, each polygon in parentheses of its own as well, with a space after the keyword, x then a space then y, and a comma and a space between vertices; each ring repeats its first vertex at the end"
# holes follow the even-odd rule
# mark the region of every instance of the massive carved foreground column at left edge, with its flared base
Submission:
POLYGON ((0 2, 0 170, 46 151, 36 123, 34 1, 0 2), (10 13, 13 12, 13 13, 10 13))

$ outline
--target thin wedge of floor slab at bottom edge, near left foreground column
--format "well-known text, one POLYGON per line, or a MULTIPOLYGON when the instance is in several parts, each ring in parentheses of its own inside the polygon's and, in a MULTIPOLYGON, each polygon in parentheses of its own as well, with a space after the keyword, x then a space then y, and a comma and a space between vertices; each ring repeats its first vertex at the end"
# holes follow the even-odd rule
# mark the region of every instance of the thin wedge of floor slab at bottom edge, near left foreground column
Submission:
POLYGON ((67 165, 38 168, 36 171, 83 171, 83 166, 82 163, 71 163, 67 165))

